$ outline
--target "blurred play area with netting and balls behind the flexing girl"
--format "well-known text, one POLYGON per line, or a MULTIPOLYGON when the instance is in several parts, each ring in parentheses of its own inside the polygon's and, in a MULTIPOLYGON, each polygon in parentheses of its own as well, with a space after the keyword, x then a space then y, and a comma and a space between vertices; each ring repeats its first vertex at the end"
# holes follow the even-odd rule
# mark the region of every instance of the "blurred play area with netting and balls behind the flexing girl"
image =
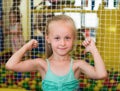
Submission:
POLYGON ((120 1, 119 0, 0 0, 0 91, 42 91, 38 72, 5 69, 11 55, 31 39, 39 47, 24 59, 46 58, 45 26, 48 19, 65 14, 77 27, 77 41, 71 55, 94 66, 81 42, 92 37, 105 62, 108 78, 80 76, 79 91, 120 91, 120 1))

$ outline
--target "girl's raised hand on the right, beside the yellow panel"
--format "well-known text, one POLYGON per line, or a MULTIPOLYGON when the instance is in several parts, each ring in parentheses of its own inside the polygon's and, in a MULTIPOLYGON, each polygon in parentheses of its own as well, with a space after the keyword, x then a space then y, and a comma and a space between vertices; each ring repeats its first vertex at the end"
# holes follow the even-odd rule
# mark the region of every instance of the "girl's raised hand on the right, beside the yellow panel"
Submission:
POLYGON ((90 37, 86 38, 82 45, 85 47, 85 52, 92 52, 96 49, 95 43, 90 37))

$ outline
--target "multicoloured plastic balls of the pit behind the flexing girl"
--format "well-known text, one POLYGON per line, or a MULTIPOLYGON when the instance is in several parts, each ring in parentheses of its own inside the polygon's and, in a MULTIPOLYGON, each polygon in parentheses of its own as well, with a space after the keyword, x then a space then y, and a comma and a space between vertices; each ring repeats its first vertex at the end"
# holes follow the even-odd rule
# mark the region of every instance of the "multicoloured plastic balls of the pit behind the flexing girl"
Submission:
MULTIPOLYGON (((94 65, 93 60, 87 59, 87 62, 94 65)), ((105 80, 87 79, 82 74, 79 82, 80 91, 120 91, 120 74, 113 70, 108 71, 108 78, 105 80)), ((41 76, 38 72, 8 71, 5 69, 5 64, 1 64, 0 88, 24 88, 28 91, 42 91, 41 83, 41 76)))

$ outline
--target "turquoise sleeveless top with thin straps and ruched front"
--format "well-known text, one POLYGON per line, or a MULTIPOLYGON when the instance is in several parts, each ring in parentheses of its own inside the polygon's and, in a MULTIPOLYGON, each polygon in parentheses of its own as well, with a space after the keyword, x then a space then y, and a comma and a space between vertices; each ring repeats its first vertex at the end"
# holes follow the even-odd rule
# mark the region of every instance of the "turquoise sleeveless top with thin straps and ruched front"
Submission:
POLYGON ((57 76, 50 70, 50 63, 47 59, 48 71, 42 80, 43 91, 77 91, 79 81, 75 78, 72 70, 73 59, 71 59, 69 72, 64 76, 57 76))

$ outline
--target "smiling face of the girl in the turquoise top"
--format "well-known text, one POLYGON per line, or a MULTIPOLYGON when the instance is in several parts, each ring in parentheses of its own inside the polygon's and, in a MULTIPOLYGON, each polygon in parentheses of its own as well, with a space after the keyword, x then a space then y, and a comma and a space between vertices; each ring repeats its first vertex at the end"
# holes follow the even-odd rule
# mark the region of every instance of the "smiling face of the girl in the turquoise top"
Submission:
POLYGON ((46 39, 51 44, 53 54, 67 55, 72 50, 74 34, 71 26, 63 21, 52 22, 49 25, 46 39))

